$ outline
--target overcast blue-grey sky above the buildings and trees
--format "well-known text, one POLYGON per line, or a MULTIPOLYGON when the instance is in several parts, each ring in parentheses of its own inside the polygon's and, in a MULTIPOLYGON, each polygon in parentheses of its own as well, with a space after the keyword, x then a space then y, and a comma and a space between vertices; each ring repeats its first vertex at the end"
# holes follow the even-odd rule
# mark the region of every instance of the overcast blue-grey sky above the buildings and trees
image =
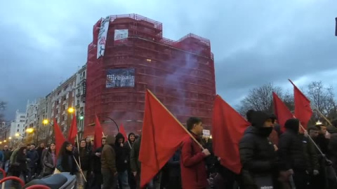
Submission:
POLYGON ((336 0, 1 1, 0 100, 6 118, 25 111, 86 63, 95 22, 138 13, 163 23, 164 36, 211 40, 217 92, 237 106, 249 89, 322 80, 337 88, 336 0))

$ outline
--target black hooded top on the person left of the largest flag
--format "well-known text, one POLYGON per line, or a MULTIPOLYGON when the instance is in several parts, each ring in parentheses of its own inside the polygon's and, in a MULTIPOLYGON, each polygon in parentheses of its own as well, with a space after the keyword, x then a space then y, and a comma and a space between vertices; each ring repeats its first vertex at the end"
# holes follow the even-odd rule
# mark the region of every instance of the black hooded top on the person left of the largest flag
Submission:
POLYGON ((124 145, 124 136, 121 133, 116 135, 116 141, 114 143, 114 150, 116 151, 116 167, 117 172, 125 172, 128 169, 128 148, 124 145), (123 139, 119 143, 119 139, 123 139), (121 146, 123 144, 123 146, 121 146))

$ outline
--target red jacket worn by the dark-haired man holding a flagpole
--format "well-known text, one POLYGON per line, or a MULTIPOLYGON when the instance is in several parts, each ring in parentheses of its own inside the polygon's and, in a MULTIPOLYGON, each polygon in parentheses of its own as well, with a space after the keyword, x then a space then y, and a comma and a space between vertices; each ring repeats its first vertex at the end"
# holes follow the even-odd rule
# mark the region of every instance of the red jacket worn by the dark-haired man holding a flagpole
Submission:
MULTIPOLYGON (((192 135, 199 141, 195 134, 192 135)), ((180 159, 181 184, 184 189, 206 188, 208 182, 205 158, 200 146, 191 137, 185 137, 180 159)))

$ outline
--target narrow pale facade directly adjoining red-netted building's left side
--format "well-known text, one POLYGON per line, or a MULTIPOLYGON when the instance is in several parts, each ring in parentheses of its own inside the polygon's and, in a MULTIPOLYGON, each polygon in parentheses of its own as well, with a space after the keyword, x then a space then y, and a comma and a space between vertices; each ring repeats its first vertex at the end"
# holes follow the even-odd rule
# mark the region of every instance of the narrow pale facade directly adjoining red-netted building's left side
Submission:
POLYGON ((81 139, 84 132, 84 106, 86 105, 86 65, 82 66, 77 72, 75 94, 77 130, 79 132, 79 138, 81 139))

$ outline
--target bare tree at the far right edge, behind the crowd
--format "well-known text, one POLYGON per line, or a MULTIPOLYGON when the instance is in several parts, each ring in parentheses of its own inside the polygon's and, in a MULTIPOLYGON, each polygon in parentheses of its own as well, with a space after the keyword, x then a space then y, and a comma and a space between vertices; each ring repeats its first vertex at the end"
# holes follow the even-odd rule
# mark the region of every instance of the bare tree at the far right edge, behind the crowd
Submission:
POLYGON ((307 97, 312 104, 314 119, 322 120, 316 110, 320 111, 326 118, 337 117, 337 103, 333 94, 333 87, 324 87, 322 81, 314 81, 308 85, 307 97))

